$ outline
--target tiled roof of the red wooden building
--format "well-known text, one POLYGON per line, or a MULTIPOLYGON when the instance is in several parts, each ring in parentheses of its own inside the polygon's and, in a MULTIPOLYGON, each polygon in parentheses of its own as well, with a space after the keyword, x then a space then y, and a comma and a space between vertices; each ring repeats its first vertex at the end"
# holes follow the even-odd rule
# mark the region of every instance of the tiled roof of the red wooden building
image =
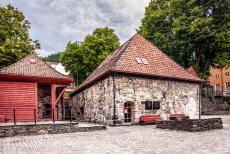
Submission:
POLYGON ((63 75, 42 61, 36 53, 32 53, 18 62, 0 69, 0 76, 37 77, 73 81, 73 78, 63 75))

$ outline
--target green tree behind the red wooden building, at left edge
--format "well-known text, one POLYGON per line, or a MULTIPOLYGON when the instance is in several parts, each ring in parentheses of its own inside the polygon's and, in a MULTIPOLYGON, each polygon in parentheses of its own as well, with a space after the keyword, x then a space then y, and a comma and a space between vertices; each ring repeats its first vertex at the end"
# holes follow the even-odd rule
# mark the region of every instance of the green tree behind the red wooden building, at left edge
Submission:
POLYGON ((30 23, 21 11, 12 5, 0 6, 0 68, 40 48, 38 41, 30 39, 29 29, 30 23))

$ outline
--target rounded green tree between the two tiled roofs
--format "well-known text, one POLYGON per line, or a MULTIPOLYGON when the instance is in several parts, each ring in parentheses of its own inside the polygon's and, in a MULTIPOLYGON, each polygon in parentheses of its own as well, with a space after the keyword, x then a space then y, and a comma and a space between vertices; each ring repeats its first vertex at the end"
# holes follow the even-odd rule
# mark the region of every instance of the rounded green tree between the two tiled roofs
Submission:
POLYGON ((60 60, 79 85, 119 45, 113 29, 96 28, 84 42, 69 42, 60 60))

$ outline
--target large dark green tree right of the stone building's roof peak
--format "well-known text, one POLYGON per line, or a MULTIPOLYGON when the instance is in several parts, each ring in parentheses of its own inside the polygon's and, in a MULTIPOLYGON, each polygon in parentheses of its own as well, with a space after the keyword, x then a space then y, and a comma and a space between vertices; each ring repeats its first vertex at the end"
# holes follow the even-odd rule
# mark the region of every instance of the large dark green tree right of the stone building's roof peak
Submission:
POLYGON ((206 78, 216 56, 230 49, 230 1, 154 0, 146 7, 139 31, 206 78))

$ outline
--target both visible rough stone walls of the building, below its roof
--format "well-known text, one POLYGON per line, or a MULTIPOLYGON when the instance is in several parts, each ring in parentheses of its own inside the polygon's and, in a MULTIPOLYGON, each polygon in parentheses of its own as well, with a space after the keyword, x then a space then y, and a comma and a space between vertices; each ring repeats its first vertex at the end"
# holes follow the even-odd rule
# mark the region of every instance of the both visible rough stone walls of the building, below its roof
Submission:
MULTIPOLYGON (((113 117, 113 78, 108 77, 75 95, 73 116, 86 121, 111 123, 113 117), (80 108, 84 107, 84 116, 80 108)), ((115 76, 116 117, 124 120, 124 103, 133 102, 132 123, 139 122, 143 114, 184 113, 190 118, 199 117, 199 85, 170 80, 115 76), (145 110, 144 101, 160 101, 160 109, 145 110)))

